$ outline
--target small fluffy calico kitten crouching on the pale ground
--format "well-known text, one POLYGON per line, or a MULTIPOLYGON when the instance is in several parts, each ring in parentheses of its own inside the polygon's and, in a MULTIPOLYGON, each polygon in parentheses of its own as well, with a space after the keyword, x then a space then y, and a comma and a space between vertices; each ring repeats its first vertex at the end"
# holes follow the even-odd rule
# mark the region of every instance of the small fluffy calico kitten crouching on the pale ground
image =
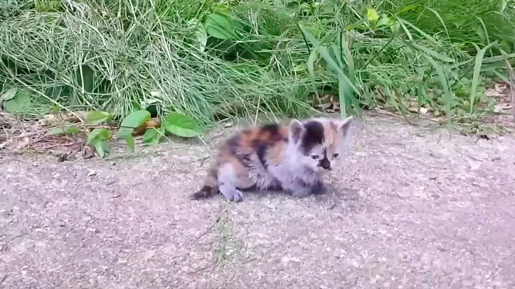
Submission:
POLYGON ((241 190, 284 190, 296 197, 322 194, 321 174, 339 163, 349 140, 352 117, 294 119, 245 129, 228 138, 218 149, 216 162, 198 200, 221 192, 228 200, 243 200, 241 190))

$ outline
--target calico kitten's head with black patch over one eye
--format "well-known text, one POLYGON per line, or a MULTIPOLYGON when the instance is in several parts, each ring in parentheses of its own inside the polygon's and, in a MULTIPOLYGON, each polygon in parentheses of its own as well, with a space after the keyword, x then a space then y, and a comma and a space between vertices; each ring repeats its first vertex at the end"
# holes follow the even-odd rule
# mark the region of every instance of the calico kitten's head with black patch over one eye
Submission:
POLYGON ((288 130, 295 160, 314 171, 339 165, 349 144, 352 117, 346 119, 292 120, 288 130))

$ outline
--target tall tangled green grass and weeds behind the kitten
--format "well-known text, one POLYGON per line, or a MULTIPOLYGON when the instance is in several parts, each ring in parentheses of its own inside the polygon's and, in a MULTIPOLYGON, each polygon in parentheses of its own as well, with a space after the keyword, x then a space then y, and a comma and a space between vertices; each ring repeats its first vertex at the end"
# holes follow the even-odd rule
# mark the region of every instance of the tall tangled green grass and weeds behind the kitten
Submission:
POLYGON ((143 108, 209 124, 302 117, 334 94, 342 116, 424 107, 450 124, 492 109, 514 19, 501 0, 2 1, 0 95, 30 95, 34 118, 143 108))

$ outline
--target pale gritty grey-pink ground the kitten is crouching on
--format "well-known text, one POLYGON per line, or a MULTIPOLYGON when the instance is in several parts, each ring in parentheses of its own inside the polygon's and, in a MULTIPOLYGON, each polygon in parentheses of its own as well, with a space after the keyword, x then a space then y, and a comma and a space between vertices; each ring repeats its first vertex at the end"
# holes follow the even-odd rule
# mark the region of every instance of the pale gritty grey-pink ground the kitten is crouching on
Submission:
POLYGON ((239 204, 201 146, 0 155, 0 288, 514 288, 514 149, 368 120, 329 194, 239 204))

